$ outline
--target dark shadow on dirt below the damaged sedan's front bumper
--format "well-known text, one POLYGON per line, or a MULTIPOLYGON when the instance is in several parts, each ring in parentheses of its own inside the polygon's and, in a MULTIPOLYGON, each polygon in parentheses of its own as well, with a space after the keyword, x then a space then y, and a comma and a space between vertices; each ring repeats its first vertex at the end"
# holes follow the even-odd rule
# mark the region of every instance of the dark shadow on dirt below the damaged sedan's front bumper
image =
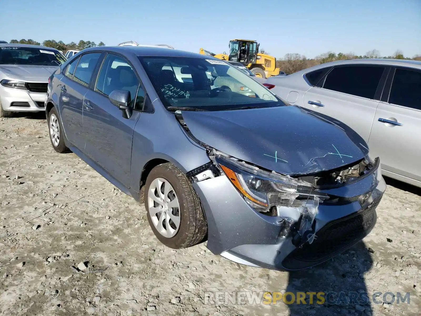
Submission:
POLYGON ((303 301, 288 304, 291 316, 296 315, 372 315, 370 299, 364 281, 364 273, 370 270, 373 260, 364 242, 360 241, 342 254, 313 268, 291 271, 286 292, 304 292, 303 301), (313 292, 311 295, 309 292, 313 292), (325 300, 317 293, 324 292, 325 300), (310 296, 313 296, 311 300, 310 296), (319 302, 319 303, 317 303, 319 302))

